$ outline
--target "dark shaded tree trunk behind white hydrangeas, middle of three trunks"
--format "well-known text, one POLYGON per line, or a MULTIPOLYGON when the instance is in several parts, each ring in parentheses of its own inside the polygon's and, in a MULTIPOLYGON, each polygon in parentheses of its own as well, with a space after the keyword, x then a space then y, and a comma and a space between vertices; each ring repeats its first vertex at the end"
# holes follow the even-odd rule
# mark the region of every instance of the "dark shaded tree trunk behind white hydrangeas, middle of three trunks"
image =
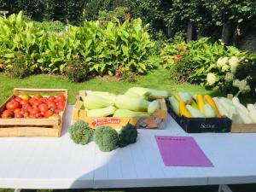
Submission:
POLYGON ((230 45, 233 43, 235 28, 236 26, 231 21, 224 23, 221 33, 221 39, 223 40, 224 44, 230 45))

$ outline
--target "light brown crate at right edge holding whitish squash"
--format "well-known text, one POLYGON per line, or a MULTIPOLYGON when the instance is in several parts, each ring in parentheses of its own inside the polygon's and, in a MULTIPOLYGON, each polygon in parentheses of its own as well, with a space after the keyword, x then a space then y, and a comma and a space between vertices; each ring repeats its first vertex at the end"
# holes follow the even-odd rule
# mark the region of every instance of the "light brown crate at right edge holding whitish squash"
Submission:
MULTIPOLYGON (((229 99, 233 98, 232 94, 228 94, 227 96, 229 99)), ((236 115, 233 115, 232 117, 232 126, 231 126, 231 132, 236 133, 247 133, 247 132, 256 132, 256 124, 238 124, 236 123, 236 115)))

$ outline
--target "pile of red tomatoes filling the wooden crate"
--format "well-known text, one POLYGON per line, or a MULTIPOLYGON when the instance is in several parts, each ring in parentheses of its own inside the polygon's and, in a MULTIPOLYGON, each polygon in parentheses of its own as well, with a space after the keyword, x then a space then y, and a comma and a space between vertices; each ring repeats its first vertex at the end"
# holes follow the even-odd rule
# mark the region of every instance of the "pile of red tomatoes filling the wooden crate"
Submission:
POLYGON ((21 93, 10 100, 1 114, 2 118, 50 118, 59 119, 65 108, 66 96, 41 96, 35 94, 29 96, 21 93))

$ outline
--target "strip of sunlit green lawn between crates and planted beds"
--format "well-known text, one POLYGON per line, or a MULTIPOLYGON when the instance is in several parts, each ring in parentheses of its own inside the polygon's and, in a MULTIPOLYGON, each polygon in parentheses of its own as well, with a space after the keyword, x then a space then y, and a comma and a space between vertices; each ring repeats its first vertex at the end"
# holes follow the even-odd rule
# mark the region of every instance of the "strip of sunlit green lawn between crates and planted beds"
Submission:
POLYGON ((113 93, 123 93, 133 86, 144 86, 155 89, 164 89, 170 91, 171 94, 180 90, 187 90, 192 94, 218 94, 213 90, 206 90, 199 85, 177 84, 170 79, 169 71, 158 69, 148 75, 139 77, 136 83, 127 81, 113 81, 105 79, 90 79, 84 83, 76 84, 63 79, 62 77, 52 75, 34 75, 26 79, 10 79, 0 74, 0 103, 3 103, 12 95, 14 88, 65 88, 68 89, 69 103, 75 102, 79 90, 102 90, 113 93))

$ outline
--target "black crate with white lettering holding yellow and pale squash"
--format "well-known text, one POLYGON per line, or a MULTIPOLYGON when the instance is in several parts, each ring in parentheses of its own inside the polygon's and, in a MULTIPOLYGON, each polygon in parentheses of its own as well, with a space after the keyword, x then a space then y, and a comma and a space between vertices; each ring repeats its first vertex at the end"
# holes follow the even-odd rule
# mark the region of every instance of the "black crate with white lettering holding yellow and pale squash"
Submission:
POLYGON ((186 118, 179 117, 167 102, 168 113, 188 133, 230 132, 232 121, 229 118, 186 118))

